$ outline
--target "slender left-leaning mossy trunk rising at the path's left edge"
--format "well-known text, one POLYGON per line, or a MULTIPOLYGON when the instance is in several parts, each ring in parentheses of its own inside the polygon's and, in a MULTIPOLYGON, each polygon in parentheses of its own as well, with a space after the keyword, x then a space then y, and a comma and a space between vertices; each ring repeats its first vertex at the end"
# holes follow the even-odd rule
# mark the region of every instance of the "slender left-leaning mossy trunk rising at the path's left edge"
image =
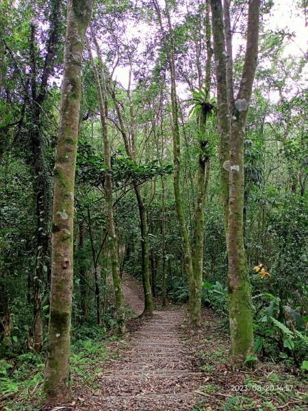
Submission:
MULTIPOLYGON (((112 177, 110 174, 111 170, 111 156, 110 156, 110 142, 108 138, 107 129, 107 95, 103 93, 103 87, 101 87, 101 82, 99 80, 99 71, 94 62, 92 56, 92 50, 90 43, 87 42, 88 54, 90 62, 92 64, 92 69, 94 73, 95 83, 97 85, 97 95, 99 97, 99 109, 101 114, 101 129, 103 134, 103 145, 104 145, 104 164, 107 167, 105 171, 105 194, 107 203, 107 236, 108 244, 110 249, 110 261, 112 266, 112 279, 114 282, 114 294, 116 297, 116 314, 118 323, 118 333, 125 333, 125 301, 124 293, 121 285, 120 278, 120 264, 118 260, 118 242, 116 239, 116 229, 114 226, 114 205, 112 200, 112 177)), ((105 84, 105 79, 103 78, 103 84, 105 84)))

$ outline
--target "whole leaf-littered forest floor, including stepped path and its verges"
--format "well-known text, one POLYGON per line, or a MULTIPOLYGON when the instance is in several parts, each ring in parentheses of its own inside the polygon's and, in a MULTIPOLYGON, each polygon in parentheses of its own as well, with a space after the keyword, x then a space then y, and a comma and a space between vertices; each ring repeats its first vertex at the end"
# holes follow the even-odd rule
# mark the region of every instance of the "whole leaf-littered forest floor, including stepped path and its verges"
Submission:
MULTIPOLYGON (((70 403, 40 410, 308 410, 307 374, 269 362, 231 371, 227 327, 211 310, 203 310, 200 329, 189 327, 185 307, 162 308, 159 301, 153 317, 138 317, 142 285, 126 276, 123 288, 135 313, 127 336, 80 347, 71 357, 70 403)), ((38 410, 42 371, 34 380, 26 395, 16 393, 0 410, 38 410)))

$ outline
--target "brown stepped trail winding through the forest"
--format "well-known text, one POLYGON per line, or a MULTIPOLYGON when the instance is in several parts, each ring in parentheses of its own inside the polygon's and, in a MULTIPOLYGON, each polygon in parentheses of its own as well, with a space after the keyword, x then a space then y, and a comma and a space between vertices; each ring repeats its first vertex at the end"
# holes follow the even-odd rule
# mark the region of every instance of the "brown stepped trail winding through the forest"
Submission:
MULTIPOLYGON (((137 313, 143 309, 142 285, 125 276, 125 299, 137 313)), ((139 320, 137 320, 139 321, 139 320)), ((190 410, 194 390, 202 383, 181 342, 181 310, 155 311, 142 319, 123 358, 108 363, 95 383, 101 396, 88 397, 82 410, 190 410)))

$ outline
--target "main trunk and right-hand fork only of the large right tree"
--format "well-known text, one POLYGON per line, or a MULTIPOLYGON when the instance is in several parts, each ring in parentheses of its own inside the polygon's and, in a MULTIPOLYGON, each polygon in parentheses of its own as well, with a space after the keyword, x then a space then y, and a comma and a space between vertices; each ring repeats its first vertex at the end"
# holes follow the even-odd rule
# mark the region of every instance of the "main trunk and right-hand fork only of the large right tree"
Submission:
POLYGON ((243 365, 246 357, 253 352, 251 286, 246 269, 243 232, 244 133, 257 66, 259 7, 260 0, 253 0, 248 6, 246 55, 231 125, 227 251, 231 358, 236 365, 243 365))

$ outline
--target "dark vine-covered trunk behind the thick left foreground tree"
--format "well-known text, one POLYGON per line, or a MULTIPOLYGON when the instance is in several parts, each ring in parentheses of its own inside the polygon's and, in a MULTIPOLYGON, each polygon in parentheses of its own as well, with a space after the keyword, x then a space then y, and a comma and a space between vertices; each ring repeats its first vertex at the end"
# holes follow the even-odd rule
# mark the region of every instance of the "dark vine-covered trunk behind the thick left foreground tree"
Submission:
POLYGON ((55 59, 56 44, 60 35, 60 7, 61 1, 51 2, 50 29, 46 42, 47 53, 44 58, 42 71, 39 71, 38 44, 36 40, 36 26, 31 24, 29 42, 29 85, 31 98, 29 113, 31 122, 29 126, 29 146, 31 149, 32 187, 34 203, 36 204, 36 263, 34 271, 34 351, 40 352, 43 345, 43 317, 42 300, 44 286, 50 277, 50 251, 51 251, 51 199, 52 184, 49 164, 46 158, 48 140, 44 136, 42 123, 42 105, 47 99, 49 77, 53 73, 53 60, 55 59))

